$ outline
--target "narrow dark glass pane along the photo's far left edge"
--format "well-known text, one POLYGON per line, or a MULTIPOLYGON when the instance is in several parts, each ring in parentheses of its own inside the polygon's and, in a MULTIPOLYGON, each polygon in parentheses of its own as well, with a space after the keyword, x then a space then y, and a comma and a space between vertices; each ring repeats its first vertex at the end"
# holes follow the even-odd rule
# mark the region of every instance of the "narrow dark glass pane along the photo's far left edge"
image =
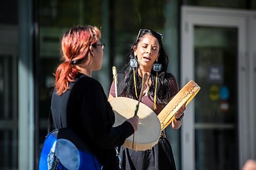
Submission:
POLYGON ((18 167, 17 1, 0 6, 0 169, 18 167))

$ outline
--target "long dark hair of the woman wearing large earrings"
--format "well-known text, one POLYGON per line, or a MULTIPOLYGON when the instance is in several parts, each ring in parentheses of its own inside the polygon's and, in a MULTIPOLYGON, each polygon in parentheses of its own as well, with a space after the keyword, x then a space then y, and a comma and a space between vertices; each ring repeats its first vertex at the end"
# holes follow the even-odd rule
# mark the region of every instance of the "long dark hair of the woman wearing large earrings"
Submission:
MULTIPOLYGON (((157 38, 160 48, 159 48, 159 58, 158 63, 162 64, 162 69, 158 72, 158 83, 157 83, 157 103, 161 104, 167 104, 169 102, 169 99, 171 98, 171 91, 170 91, 170 82, 169 77, 167 74, 167 66, 168 66, 168 56, 164 51, 163 44, 162 44, 162 36, 161 34, 152 31, 152 30, 140 30, 138 37, 135 39, 133 44, 130 47, 130 52, 125 57, 125 64, 123 67, 124 71, 124 78, 123 81, 120 82, 119 96, 124 96, 127 98, 132 98, 135 100, 138 100, 136 98, 135 94, 135 87, 134 87, 134 79, 133 79, 133 67, 130 66, 130 60, 136 59, 134 56, 134 46, 138 46, 138 43, 141 41, 143 36, 145 34, 152 35, 155 38, 157 38)), ((138 66, 139 67, 139 66, 138 66)), ((139 92, 141 90, 141 83, 142 78, 138 74, 138 67, 135 68, 135 78, 136 78, 136 85, 137 85, 137 92, 139 95, 139 92)), ((150 89, 148 90, 148 98, 152 96, 154 98, 154 92, 155 92, 155 84, 156 84, 156 71, 151 70, 151 80, 152 84, 150 86, 150 89)), ((149 85, 149 82, 147 82, 149 85)))

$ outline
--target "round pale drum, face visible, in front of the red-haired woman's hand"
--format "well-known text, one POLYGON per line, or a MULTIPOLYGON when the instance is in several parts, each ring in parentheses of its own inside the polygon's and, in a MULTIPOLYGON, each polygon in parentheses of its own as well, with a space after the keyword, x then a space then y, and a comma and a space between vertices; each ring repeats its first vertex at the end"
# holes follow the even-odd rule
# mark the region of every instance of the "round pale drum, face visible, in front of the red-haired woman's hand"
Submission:
MULTIPOLYGON (((113 127, 121 125, 127 119, 133 117, 138 104, 136 100, 123 97, 113 98, 109 102, 115 113, 113 127)), ((159 119, 151 108, 141 102, 137 115, 139 116, 139 124, 138 130, 134 133, 134 146, 133 135, 131 135, 124 141, 123 147, 135 151, 152 149, 160 138, 161 126, 159 119)))

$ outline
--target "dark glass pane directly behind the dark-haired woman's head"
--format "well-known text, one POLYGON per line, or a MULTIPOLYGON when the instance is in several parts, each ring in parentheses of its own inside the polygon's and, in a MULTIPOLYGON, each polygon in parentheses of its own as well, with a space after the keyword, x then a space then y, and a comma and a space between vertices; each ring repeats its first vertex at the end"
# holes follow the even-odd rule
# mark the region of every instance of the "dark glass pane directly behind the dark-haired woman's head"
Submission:
MULTIPOLYGON (((113 64, 122 68, 124 57, 129 51, 140 29, 165 31, 165 1, 115 1, 113 64)), ((164 37, 165 38, 165 37, 164 37)))

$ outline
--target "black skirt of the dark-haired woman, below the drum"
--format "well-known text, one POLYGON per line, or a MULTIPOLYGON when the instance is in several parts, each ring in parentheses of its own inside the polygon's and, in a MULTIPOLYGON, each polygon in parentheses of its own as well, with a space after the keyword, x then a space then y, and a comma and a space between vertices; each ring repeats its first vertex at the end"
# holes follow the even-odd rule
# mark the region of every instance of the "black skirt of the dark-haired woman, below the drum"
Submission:
POLYGON ((122 169, 132 170, 175 170, 175 161, 172 147, 166 138, 146 151, 134 151, 124 147, 120 148, 122 169))

